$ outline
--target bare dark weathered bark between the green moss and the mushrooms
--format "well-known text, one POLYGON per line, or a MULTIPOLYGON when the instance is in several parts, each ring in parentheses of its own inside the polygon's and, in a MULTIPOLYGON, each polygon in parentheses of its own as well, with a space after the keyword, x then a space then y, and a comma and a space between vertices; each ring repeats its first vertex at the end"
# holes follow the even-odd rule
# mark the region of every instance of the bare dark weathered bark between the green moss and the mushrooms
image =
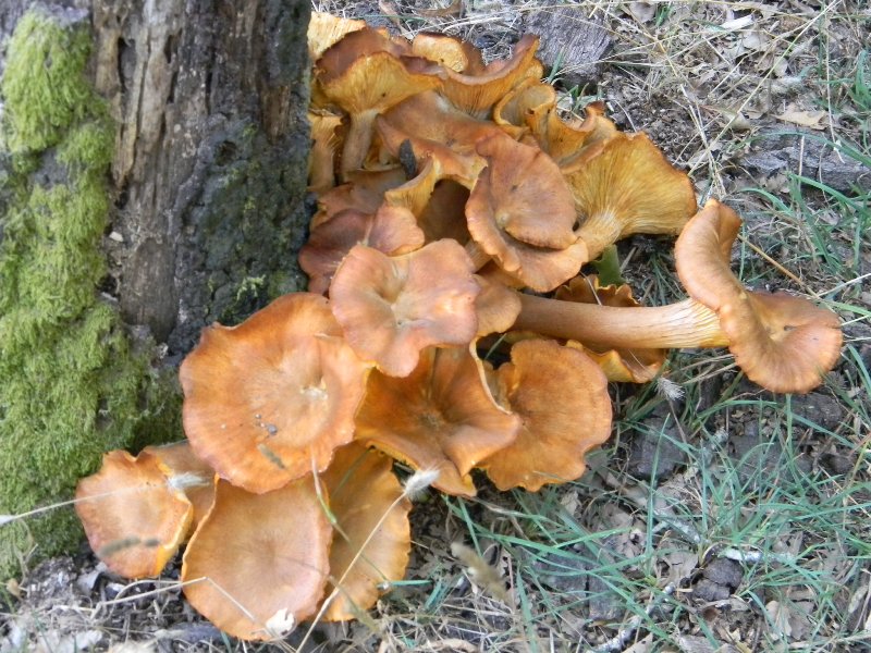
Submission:
POLYGON ((125 320, 183 353, 203 325, 300 286, 308 5, 128 4, 93 8, 97 89, 120 125, 113 276, 125 320))

